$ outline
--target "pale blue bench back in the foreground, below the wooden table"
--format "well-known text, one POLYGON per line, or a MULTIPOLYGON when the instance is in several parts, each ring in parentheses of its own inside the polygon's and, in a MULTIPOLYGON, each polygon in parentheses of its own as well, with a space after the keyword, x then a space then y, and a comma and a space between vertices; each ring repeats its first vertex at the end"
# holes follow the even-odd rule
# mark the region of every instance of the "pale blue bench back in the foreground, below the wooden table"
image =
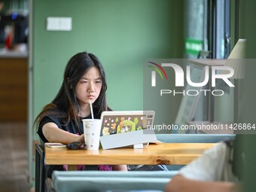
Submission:
POLYGON ((166 184, 177 174, 172 172, 59 172, 52 175, 53 191, 164 191, 166 184))

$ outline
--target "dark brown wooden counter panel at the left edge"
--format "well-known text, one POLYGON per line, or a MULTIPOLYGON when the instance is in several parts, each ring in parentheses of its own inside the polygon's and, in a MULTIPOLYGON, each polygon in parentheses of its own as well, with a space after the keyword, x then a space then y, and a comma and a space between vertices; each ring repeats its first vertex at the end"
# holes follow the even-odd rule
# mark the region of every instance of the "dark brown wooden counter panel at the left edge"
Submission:
POLYGON ((27 59, 0 58, 0 121, 26 121, 27 59))

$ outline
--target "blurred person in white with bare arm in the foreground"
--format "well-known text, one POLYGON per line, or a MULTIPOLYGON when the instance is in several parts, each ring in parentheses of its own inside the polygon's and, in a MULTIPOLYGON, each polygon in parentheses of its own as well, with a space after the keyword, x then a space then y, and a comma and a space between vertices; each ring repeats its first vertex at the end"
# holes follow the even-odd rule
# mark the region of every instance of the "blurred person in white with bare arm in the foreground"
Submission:
POLYGON ((241 191, 245 153, 238 140, 236 136, 236 139, 219 142, 181 168, 166 185, 166 192, 241 191))

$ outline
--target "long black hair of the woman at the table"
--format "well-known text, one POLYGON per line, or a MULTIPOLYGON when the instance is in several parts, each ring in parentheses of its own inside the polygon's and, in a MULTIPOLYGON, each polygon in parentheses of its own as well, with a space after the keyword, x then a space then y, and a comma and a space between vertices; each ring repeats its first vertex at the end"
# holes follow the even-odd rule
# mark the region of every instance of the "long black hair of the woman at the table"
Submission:
POLYGON ((81 120, 78 114, 81 109, 75 96, 75 87, 83 75, 92 67, 99 69, 102 79, 102 89, 99 97, 93 103, 93 115, 96 118, 100 118, 102 111, 107 110, 105 72, 97 56, 93 55, 93 53, 82 52, 75 54, 75 56, 69 59, 59 92, 51 103, 44 106, 38 117, 35 118, 35 123, 38 124, 45 116, 53 115, 54 117, 62 118, 65 124, 69 123, 70 120, 75 120, 78 126, 81 120))

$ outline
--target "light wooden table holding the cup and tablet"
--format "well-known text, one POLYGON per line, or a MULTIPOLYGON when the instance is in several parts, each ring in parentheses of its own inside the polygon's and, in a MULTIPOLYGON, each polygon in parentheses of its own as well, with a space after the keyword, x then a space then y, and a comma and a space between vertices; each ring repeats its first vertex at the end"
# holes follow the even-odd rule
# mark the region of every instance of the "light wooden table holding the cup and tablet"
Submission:
POLYGON ((168 164, 185 165, 200 157, 213 143, 160 143, 142 149, 116 148, 99 151, 45 147, 46 165, 168 164))

